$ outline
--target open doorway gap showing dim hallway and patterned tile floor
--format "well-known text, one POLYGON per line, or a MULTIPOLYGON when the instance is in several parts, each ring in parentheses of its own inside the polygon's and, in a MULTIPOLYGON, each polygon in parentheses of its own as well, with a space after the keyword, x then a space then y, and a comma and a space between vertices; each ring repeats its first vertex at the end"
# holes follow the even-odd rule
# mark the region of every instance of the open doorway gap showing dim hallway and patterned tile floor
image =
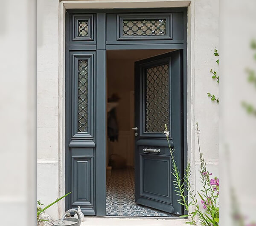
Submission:
POLYGON ((134 63, 169 51, 107 51, 106 216, 175 216, 138 205, 134 197, 134 63))

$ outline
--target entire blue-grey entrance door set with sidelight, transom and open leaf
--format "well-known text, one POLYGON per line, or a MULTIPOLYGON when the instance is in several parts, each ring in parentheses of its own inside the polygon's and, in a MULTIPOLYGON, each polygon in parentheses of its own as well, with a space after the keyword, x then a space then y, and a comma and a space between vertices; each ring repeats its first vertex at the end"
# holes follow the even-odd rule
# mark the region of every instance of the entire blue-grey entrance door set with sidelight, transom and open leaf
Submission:
POLYGON ((73 191, 65 198, 65 209, 80 206, 84 215, 105 215, 106 52, 180 49, 137 63, 135 126, 139 128, 137 202, 182 214, 172 188, 163 128, 165 123, 171 128, 175 157, 183 174, 186 118, 182 119, 182 107, 186 112, 186 93, 182 94, 183 87, 186 91, 187 69, 181 59, 186 62, 187 9, 67 9, 65 21, 65 192, 73 191), (169 77, 159 80, 164 76, 156 77, 161 65, 168 65, 164 70, 169 77), (145 77, 145 70, 154 67, 158 71, 145 77), (157 94, 158 90, 163 93, 157 94), (163 101, 167 102, 162 106, 163 101), (144 153, 144 148, 161 152, 144 153))

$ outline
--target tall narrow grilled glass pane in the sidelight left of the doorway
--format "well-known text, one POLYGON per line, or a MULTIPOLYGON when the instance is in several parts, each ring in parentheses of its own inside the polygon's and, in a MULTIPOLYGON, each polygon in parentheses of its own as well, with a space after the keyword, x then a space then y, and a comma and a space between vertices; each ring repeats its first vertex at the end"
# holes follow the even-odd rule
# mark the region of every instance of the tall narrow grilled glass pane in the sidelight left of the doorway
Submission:
POLYGON ((88 132, 88 60, 78 61, 78 132, 88 132))

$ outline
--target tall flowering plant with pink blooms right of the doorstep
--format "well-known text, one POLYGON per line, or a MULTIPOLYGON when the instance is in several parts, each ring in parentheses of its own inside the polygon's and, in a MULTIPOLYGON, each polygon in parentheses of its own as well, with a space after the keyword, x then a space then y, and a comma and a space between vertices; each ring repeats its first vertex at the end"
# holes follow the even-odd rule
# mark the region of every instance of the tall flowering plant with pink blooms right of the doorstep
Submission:
POLYGON ((169 131, 167 126, 165 125, 164 134, 167 137, 169 149, 172 158, 172 175, 174 176, 173 183, 175 187, 176 195, 180 196, 178 203, 183 205, 185 211, 188 213, 187 215, 182 215, 180 217, 189 217, 190 225, 206 225, 206 226, 218 226, 219 225, 219 207, 218 207, 218 196, 219 196, 219 179, 217 177, 210 178, 212 175, 206 169, 206 163, 203 158, 203 154, 201 153, 200 143, 199 143, 199 128, 198 123, 196 123, 196 133, 198 137, 198 147, 199 147, 199 155, 200 155, 200 182, 202 184, 202 189, 196 192, 192 190, 190 184, 190 176, 191 176, 191 163, 188 161, 184 178, 180 177, 180 171, 174 159, 174 149, 171 148, 169 143, 169 131), (185 189, 188 192, 188 195, 184 195, 185 189), (196 195, 201 198, 201 205, 203 207, 200 208, 198 205, 198 199, 196 195), (188 197, 190 200, 188 200, 188 197), (193 208, 191 208, 191 207, 193 208), (192 210, 192 211, 191 211, 192 210))

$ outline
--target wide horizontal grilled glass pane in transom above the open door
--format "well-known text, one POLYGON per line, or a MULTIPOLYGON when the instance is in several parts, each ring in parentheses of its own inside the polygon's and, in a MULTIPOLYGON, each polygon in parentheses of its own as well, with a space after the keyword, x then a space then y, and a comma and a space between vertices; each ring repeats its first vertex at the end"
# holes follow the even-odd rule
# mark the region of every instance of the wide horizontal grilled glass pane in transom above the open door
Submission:
POLYGON ((123 20, 123 36, 166 35, 166 19, 123 20))

